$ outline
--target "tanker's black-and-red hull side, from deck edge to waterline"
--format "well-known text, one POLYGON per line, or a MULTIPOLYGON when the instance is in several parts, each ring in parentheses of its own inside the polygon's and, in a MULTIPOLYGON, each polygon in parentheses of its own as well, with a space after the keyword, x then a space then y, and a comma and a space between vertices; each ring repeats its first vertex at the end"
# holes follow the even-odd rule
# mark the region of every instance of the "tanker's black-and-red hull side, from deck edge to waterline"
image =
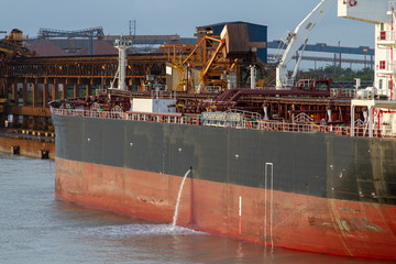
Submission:
POLYGON ((270 246, 395 260, 394 138, 244 123, 235 113, 224 125, 218 117, 52 111, 61 199, 170 222, 193 168, 177 224, 270 246))

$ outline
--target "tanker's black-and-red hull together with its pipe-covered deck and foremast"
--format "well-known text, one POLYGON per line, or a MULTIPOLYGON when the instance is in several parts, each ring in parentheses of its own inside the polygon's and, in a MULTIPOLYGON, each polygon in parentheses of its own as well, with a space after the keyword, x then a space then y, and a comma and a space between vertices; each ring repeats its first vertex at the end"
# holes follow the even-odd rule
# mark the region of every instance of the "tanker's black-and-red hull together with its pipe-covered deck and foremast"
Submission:
POLYGON ((289 89, 230 89, 199 103, 191 97, 114 88, 52 101, 56 196, 172 222, 187 176, 178 226, 396 260, 392 94, 300 80, 289 89))

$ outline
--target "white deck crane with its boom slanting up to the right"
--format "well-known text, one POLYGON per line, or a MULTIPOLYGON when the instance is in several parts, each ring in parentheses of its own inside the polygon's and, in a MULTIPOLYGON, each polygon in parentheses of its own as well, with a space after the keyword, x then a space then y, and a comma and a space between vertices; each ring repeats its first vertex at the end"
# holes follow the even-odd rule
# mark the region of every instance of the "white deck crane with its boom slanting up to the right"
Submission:
POLYGON ((276 89, 284 89, 294 85, 294 78, 297 75, 302 54, 300 54, 292 76, 288 75, 287 64, 301 46, 304 46, 301 53, 304 52, 308 37, 336 2, 337 0, 321 0, 320 3, 297 25, 295 31, 288 33, 285 41, 285 44, 287 45, 286 51, 276 67, 276 89))

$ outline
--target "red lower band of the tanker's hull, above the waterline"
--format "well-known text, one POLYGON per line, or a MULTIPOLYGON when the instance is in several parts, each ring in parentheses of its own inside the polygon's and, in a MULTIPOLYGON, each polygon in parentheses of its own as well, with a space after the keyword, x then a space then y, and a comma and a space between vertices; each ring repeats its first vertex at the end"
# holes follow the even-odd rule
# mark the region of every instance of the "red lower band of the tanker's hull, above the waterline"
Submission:
MULTIPOLYGON (((56 157, 57 197, 158 222, 172 222, 182 180, 172 175, 56 157)), ((188 178, 177 224, 300 251, 396 260, 395 206, 188 178)))

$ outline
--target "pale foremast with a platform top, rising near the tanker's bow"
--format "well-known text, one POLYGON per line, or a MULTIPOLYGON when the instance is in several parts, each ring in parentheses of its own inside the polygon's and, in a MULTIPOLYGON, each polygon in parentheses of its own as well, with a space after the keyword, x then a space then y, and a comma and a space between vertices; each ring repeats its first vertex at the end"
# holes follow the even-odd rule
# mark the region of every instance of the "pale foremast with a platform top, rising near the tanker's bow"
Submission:
POLYGON ((114 47, 119 50, 119 67, 117 69, 117 74, 114 76, 113 81, 111 82, 111 88, 118 79, 118 88, 119 90, 127 90, 125 87, 125 67, 127 67, 127 50, 132 46, 132 41, 130 37, 121 36, 120 40, 116 40, 114 47))

